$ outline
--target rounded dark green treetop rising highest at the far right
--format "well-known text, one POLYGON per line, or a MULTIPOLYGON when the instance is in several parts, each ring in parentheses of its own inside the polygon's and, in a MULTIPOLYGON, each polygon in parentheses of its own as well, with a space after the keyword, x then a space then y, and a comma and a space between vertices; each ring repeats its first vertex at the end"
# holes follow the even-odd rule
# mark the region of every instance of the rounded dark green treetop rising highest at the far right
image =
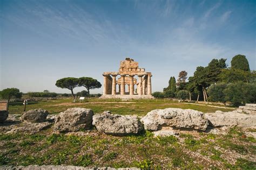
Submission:
POLYGON ((231 68, 234 69, 240 69, 240 70, 244 70, 246 72, 250 71, 250 66, 249 66, 249 62, 246 59, 245 55, 235 55, 232 60, 231 60, 231 68))

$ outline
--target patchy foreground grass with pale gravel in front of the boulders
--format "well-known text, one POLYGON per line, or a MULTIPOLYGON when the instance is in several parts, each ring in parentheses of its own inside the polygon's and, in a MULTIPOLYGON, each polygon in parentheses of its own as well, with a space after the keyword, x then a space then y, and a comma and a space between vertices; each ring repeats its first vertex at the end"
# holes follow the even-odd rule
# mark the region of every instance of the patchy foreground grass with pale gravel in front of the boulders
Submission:
POLYGON ((0 165, 76 165, 181 169, 254 169, 256 140, 240 129, 226 135, 199 133, 116 137, 96 130, 66 134, 1 134, 0 165))

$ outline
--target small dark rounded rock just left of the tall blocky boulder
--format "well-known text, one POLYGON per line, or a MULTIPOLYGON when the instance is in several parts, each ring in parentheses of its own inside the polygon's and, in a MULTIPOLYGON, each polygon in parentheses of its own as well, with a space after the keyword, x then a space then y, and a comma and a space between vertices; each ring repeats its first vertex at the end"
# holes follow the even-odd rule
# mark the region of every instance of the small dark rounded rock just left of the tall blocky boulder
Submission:
POLYGON ((30 123, 40 123, 45 122, 46 117, 48 116, 48 111, 43 109, 33 109, 26 111, 22 114, 22 121, 30 123))

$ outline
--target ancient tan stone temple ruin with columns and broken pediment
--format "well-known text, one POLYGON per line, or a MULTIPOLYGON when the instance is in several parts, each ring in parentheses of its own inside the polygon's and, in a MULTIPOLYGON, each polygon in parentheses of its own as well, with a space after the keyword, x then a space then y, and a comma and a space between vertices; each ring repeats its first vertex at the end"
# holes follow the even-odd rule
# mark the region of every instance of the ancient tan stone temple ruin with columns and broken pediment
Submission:
POLYGON ((104 72, 104 89, 100 98, 154 98, 151 95, 151 72, 126 58, 119 72, 104 72), (137 77, 137 79, 136 79, 137 77))

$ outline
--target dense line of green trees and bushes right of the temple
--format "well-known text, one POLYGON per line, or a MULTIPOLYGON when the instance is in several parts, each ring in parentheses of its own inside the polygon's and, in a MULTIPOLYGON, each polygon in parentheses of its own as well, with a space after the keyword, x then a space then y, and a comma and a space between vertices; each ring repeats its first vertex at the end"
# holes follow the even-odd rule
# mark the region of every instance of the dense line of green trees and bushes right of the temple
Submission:
POLYGON ((235 55, 229 68, 226 59, 212 59, 206 67, 197 67, 193 76, 188 79, 185 70, 179 73, 177 82, 174 76, 170 77, 169 86, 163 92, 153 93, 153 96, 224 104, 231 102, 233 105, 255 103, 256 72, 250 70, 245 55, 235 55))

